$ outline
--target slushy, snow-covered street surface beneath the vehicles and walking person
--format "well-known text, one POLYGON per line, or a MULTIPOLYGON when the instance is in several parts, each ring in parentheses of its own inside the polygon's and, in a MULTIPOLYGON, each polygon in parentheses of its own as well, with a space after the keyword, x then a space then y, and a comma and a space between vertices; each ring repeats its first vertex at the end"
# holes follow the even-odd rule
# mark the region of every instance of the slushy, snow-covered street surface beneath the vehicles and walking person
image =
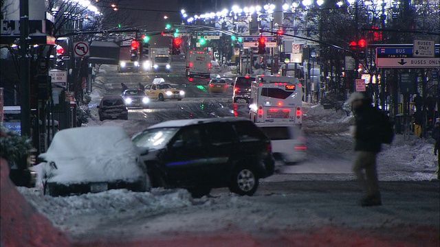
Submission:
MULTIPOLYGON (((206 80, 189 84, 171 74, 166 80, 186 85, 181 102, 153 101, 148 109, 130 110, 129 120, 98 120, 96 105, 103 95, 120 93, 122 81, 134 87, 155 76, 102 66, 87 126, 122 126, 133 135, 170 119, 248 117, 245 103, 201 90, 206 80)), ((393 145, 384 145, 377 156, 382 206, 361 207, 363 193, 351 172, 353 117, 312 104, 304 105, 304 113, 307 160, 278 164, 276 174, 260 180, 254 196, 237 196, 227 188, 212 189, 199 199, 185 189, 118 189, 67 197, 43 196, 41 186, 17 189, 71 246, 440 246, 432 140, 397 135, 393 145)), ((3 181, 1 189, 2 202, 14 193, 3 181)), ((60 246, 55 241, 34 246, 60 246)))

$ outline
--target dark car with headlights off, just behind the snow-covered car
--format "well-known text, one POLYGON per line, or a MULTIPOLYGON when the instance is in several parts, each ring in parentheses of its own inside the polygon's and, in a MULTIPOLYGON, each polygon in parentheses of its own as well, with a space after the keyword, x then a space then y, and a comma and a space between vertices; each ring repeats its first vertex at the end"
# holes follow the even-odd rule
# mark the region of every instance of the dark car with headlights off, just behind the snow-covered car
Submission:
POLYGON ((120 95, 104 96, 98 107, 99 120, 104 119, 129 119, 129 108, 124 104, 120 95))

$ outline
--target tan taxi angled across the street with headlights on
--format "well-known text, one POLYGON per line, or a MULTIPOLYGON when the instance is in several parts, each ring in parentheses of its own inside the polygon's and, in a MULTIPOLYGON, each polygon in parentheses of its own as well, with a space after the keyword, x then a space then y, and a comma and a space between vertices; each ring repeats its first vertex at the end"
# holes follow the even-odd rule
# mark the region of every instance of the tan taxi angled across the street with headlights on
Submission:
POLYGON ((165 99, 181 100, 185 97, 185 91, 176 89, 175 86, 167 83, 148 84, 145 86, 145 94, 150 99, 159 99, 159 101, 165 99))

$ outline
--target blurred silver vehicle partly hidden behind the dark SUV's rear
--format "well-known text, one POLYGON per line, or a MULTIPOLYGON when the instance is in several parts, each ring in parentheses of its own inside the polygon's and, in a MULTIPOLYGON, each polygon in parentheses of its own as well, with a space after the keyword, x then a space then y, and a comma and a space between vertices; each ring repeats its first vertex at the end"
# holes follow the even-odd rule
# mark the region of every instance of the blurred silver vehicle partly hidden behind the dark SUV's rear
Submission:
POLYGON ((278 161, 297 163, 307 158, 305 138, 300 126, 283 123, 256 124, 269 137, 272 154, 278 161))

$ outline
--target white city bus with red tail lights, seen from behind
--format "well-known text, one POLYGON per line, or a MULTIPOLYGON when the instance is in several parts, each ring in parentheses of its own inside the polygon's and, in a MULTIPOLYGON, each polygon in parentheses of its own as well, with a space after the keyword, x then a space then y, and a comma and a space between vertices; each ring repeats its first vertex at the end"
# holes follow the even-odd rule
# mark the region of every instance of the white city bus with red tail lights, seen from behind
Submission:
POLYGON ((303 123, 303 85, 289 76, 258 75, 251 86, 254 123, 303 123))

